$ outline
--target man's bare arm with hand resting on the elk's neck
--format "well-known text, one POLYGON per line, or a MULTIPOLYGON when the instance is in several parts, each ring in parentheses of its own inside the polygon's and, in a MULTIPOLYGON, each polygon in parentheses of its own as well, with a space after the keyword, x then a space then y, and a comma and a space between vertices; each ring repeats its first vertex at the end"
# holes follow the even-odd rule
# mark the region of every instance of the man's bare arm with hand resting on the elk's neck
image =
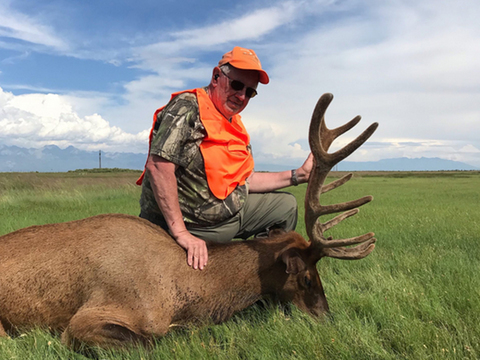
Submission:
POLYGON ((170 232, 177 243, 187 251, 187 263, 194 269, 202 270, 208 261, 205 241, 190 234, 183 222, 178 201, 175 164, 157 155, 150 155, 147 171, 160 210, 170 232))

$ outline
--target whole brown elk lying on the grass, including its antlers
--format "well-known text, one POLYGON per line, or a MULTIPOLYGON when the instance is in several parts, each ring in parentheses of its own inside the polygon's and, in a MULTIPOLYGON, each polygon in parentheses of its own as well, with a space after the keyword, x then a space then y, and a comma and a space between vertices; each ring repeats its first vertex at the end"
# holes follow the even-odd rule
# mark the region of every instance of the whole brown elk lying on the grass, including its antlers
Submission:
POLYGON ((323 235, 372 199, 319 203, 321 193, 351 177, 324 186, 330 169, 377 126, 329 154, 332 141, 360 120, 326 128, 324 113, 331 100, 330 94, 320 98, 310 125, 315 158, 305 199, 310 242, 290 232, 254 241, 210 243, 208 266, 198 271, 186 264, 185 251, 165 231, 134 216, 107 214, 21 229, 0 237, 0 336, 17 327, 43 326, 63 331, 66 344, 148 341, 164 335, 172 324, 222 322, 270 295, 313 316, 327 312, 318 260, 360 259, 375 242, 373 233, 340 240, 323 235), (341 211, 346 212, 326 223, 318 220, 341 211))

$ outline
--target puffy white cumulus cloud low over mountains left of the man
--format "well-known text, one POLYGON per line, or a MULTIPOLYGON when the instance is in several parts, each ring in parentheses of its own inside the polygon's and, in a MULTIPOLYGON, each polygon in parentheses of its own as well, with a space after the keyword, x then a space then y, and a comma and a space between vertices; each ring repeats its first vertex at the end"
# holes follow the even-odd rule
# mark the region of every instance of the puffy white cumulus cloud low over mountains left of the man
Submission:
POLYGON ((84 117, 55 94, 15 96, 0 88, 0 142, 36 148, 44 145, 84 150, 145 152, 148 131, 130 134, 98 114, 84 117))

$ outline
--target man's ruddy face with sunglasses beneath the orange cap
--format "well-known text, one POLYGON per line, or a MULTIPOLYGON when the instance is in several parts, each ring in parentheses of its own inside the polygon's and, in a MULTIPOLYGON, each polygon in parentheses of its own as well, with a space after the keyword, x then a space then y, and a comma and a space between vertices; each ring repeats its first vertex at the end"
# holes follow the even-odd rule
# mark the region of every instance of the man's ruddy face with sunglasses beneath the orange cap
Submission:
POLYGON ((214 74, 218 74, 219 77, 213 81, 215 91, 212 94, 212 102, 223 116, 230 119, 247 106, 250 98, 245 95, 245 91, 248 87, 257 88, 258 72, 254 70, 240 70, 232 67, 227 76, 220 68, 216 67, 214 74), (244 88, 238 91, 234 90, 230 85, 232 80, 244 83, 244 88))

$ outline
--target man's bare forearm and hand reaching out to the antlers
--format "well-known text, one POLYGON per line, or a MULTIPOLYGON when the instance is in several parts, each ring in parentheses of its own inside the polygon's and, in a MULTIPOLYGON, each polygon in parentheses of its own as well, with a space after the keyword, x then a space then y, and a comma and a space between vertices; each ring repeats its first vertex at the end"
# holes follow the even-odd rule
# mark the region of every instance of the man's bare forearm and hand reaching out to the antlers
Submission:
MULTIPOLYGON (((303 165, 297 169, 298 183, 306 183, 313 167, 313 155, 310 153, 303 165)), ((281 171, 274 173, 254 172, 248 178, 249 192, 270 192, 292 185, 292 172, 281 171)))

